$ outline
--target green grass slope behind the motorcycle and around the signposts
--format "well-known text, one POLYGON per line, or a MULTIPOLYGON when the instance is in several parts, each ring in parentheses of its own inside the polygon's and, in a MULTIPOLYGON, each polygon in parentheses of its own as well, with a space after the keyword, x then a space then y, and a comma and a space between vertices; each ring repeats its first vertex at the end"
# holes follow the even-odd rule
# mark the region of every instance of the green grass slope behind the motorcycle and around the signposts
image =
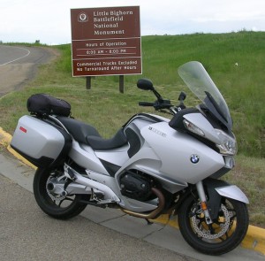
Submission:
POLYGON ((143 74, 125 76, 125 94, 118 91, 118 76, 96 77, 87 90, 85 78, 72 78, 70 45, 53 48, 61 52, 57 61, 42 65, 38 77, 26 88, 0 99, 0 126, 5 131, 12 134, 19 117, 28 113, 28 96, 42 92, 67 100, 72 104, 72 116, 110 137, 134 113, 154 112, 138 106, 139 101, 155 100, 150 92, 136 88, 141 77, 150 78, 173 103, 181 90, 186 91, 186 105, 194 105, 177 68, 190 60, 201 61, 231 108, 239 142, 237 165, 225 179, 243 188, 250 198, 251 223, 265 227, 265 33, 144 36, 143 74))

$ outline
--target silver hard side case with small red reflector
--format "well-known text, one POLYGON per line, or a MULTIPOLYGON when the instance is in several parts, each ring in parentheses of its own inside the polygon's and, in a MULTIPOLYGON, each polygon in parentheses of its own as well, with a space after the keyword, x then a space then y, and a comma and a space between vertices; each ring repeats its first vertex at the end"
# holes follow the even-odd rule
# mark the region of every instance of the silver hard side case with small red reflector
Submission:
POLYGON ((61 163, 72 147, 72 138, 64 129, 47 119, 23 116, 11 140, 11 148, 37 167, 61 163))

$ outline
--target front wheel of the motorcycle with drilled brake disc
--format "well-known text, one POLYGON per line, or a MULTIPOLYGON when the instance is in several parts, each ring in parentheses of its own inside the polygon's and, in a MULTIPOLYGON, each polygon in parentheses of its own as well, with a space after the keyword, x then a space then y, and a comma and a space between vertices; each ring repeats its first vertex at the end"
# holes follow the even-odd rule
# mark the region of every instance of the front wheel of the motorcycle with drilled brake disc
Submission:
POLYGON ((248 228, 246 204, 222 198, 213 222, 205 222, 196 196, 188 196, 178 211, 179 230, 186 242, 201 253, 217 256, 235 249, 244 239, 248 228))

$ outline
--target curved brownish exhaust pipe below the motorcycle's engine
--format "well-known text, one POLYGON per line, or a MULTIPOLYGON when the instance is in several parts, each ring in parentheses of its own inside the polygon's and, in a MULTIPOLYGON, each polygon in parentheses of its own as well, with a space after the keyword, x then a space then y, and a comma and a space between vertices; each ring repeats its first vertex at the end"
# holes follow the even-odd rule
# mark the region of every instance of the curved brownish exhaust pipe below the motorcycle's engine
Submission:
POLYGON ((121 209, 121 211, 124 211, 128 215, 136 217, 136 218, 140 218, 140 219, 155 219, 156 216, 161 211, 163 211, 165 199, 164 199, 164 196, 163 196, 162 192, 160 190, 158 190, 157 188, 152 188, 151 190, 158 197, 158 207, 154 211, 151 211, 148 214, 128 211, 128 210, 125 210, 125 209, 121 209))

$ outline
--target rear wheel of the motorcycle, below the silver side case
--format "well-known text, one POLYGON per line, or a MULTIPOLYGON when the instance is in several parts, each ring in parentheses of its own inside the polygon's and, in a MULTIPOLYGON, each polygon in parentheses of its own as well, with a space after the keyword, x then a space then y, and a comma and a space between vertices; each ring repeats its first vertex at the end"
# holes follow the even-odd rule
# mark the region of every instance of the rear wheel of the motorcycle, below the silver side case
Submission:
MULTIPOLYGON (((63 168, 62 168, 63 169, 63 168)), ((34 197, 43 212, 55 219, 71 219, 81 211, 87 204, 79 203, 80 195, 60 196, 49 191, 50 180, 66 183, 68 180, 63 175, 63 170, 37 169, 34 175, 34 197)))

